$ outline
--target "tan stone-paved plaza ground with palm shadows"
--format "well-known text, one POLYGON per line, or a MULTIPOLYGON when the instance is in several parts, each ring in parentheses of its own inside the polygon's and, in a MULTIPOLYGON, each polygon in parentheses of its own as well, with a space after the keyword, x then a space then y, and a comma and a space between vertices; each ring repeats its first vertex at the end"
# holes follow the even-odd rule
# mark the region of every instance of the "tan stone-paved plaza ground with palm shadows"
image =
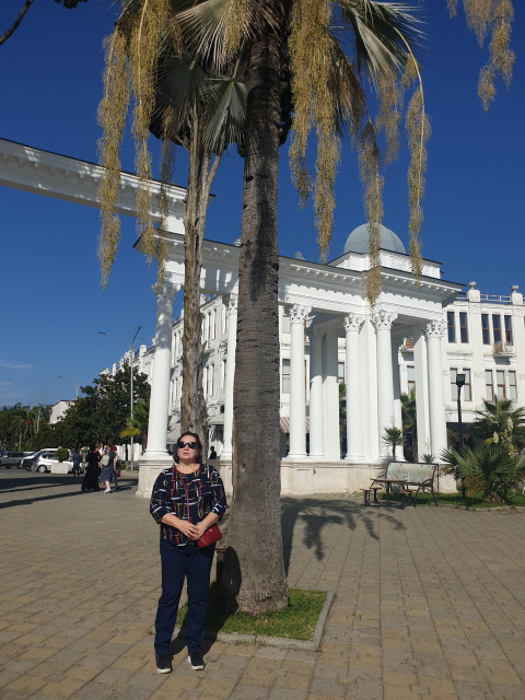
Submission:
POLYGON ((524 700, 523 511, 283 498, 289 584, 336 593, 320 649, 206 642, 191 672, 176 640, 160 675, 158 529, 121 485, 0 469, 2 700, 524 700))

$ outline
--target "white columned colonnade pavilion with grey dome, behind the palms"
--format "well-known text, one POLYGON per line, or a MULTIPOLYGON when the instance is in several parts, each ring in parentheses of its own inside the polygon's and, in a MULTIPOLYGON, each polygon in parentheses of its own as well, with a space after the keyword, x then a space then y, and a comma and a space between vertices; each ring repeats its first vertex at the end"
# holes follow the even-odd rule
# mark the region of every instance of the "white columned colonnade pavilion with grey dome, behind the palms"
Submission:
MULTIPOLYGON (((355 230, 360 233, 360 230, 355 230)), ((443 307, 462 285, 441 279, 440 266, 424 260, 416 282, 402 244, 383 229, 382 292, 371 308, 365 294, 368 253, 353 246, 328 265, 280 257, 279 303, 289 308, 290 452, 282 460, 282 491, 354 491, 387 458, 385 428, 401 428, 398 349, 404 338, 415 342, 418 393, 418 442, 439 455, 446 447, 443 358, 446 323, 443 307), (310 338, 310 377, 305 377, 305 332, 310 338), (339 439, 338 339, 346 339, 347 454, 339 439), (310 452, 306 452, 305 382, 310 381, 310 452)), ((166 452, 172 369, 172 314, 175 294, 184 287, 184 236, 166 232, 164 283, 158 290, 158 326, 151 392, 148 451, 140 466, 139 494, 148 495, 166 452)), ((140 249, 140 243, 138 245, 140 249)), ((233 382, 235 372, 238 247, 211 241, 202 246, 201 289, 223 295, 229 308, 224 382, 223 478, 231 486, 233 382)), ((264 430, 264 428, 261 428, 264 430)))

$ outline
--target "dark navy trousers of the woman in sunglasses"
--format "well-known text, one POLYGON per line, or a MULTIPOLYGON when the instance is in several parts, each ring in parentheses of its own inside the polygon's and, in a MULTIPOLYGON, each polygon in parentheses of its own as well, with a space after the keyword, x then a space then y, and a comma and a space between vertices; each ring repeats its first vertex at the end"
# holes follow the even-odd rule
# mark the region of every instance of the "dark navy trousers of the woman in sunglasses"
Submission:
POLYGON ((184 579, 188 587, 186 616, 186 646, 188 652, 200 651, 205 635, 208 588, 215 546, 185 545, 177 547, 161 537, 162 595, 155 618, 155 652, 167 654, 177 619, 178 602, 184 579))

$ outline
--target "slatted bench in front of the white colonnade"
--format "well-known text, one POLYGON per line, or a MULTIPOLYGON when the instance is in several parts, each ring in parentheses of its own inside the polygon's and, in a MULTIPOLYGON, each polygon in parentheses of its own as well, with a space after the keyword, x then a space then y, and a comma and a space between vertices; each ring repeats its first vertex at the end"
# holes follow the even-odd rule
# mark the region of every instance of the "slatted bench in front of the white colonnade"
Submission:
MULTIPOLYGON (((377 491, 385 489, 387 495, 390 492, 399 493, 401 509, 405 505, 416 505, 419 493, 431 493, 434 505, 438 505, 438 472, 436 464, 413 462, 390 462, 384 477, 376 477, 368 489, 361 489, 364 493, 364 505, 371 505, 370 497, 374 492, 374 503, 377 503, 377 491), (401 483, 382 482, 382 479, 402 480, 401 483)), ((388 498, 389 504, 389 498, 388 498)))

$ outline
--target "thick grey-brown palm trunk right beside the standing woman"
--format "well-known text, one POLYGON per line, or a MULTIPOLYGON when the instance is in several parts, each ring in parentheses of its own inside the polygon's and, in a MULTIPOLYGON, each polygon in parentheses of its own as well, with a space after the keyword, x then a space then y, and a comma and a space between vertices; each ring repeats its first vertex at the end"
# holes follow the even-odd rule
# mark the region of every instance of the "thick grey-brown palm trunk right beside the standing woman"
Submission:
POLYGON ((223 593, 245 611, 288 604, 281 536, 277 186, 280 39, 250 48, 234 384, 235 492, 223 593))

